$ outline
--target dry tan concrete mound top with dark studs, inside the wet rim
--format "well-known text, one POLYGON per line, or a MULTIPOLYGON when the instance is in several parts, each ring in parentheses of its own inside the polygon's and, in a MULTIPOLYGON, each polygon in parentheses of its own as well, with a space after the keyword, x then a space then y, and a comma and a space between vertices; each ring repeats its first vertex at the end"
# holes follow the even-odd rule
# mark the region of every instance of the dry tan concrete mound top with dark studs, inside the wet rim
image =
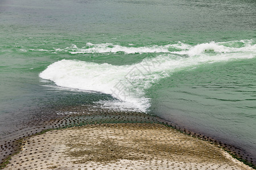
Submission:
POLYGON ((252 169, 221 148, 158 124, 102 124, 24 139, 5 169, 252 169))

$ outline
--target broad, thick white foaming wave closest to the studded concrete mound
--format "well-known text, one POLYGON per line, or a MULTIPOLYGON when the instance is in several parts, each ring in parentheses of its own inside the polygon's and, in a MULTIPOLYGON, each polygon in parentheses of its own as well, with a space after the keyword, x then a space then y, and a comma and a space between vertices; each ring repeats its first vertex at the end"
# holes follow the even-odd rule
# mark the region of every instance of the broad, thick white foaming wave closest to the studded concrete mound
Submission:
MULTIPOLYGON (((217 48, 214 43, 213 45, 210 43, 202 45, 203 47, 194 46, 193 49, 197 53, 198 49, 205 49, 205 46, 211 46, 210 49, 217 48)), ((246 48, 246 46, 243 45, 241 48, 246 48)), ((191 49, 192 52, 193 49, 191 49)), ((209 48, 207 47, 207 49, 209 48)), ((251 53, 218 53, 214 56, 208 53, 200 53, 200 55, 195 54, 191 57, 161 54, 155 58, 145 58, 140 63, 122 66, 63 59, 49 65, 39 76, 55 82, 57 86, 111 94, 119 99, 113 101, 113 105, 125 105, 125 107, 146 112, 150 107, 150 99, 145 96, 146 90, 152 84, 170 76, 175 71, 192 69, 201 64, 226 62, 255 56, 256 50, 251 53)), ((109 105, 109 101, 103 104, 109 105)))

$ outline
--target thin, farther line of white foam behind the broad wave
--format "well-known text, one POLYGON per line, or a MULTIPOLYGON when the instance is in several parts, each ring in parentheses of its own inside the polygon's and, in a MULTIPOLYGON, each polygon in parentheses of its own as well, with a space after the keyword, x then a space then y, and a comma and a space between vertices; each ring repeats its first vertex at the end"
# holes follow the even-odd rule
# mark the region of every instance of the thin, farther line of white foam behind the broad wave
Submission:
MULTIPOLYGON (((27 52, 26 49, 20 49, 27 52)), ((172 53, 181 54, 186 56, 196 56, 204 53, 236 53, 236 52, 255 52, 255 40, 241 40, 241 41, 228 41, 228 42, 209 42, 197 45, 189 45, 183 42, 177 44, 167 45, 148 45, 135 47, 134 44, 128 46, 121 46, 118 44, 104 43, 92 44, 86 43, 85 46, 77 47, 75 44, 70 47, 60 49, 29 49, 30 51, 47 52, 47 53, 70 53, 70 54, 86 54, 86 53, 118 53, 124 54, 142 54, 142 53, 172 53)))

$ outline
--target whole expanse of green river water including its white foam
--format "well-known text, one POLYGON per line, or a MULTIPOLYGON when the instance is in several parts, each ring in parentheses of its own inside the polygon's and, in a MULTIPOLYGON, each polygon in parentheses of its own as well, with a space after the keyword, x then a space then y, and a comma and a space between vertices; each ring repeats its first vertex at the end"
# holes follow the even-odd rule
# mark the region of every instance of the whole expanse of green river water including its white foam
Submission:
POLYGON ((90 104, 155 114, 256 158, 255 9, 249 0, 0 1, 0 135, 46 108, 90 104))

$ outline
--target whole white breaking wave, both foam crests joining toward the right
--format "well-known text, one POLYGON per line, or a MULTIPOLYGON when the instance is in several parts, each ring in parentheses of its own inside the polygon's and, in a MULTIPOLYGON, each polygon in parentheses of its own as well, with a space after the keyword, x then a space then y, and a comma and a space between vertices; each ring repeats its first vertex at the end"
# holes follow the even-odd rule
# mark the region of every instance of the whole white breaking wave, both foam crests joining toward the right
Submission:
POLYGON ((146 90, 160 79, 171 76, 175 71, 192 69, 207 63, 256 56, 256 45, 251 41, 247 41, 247 43, 245 41, 210 42, 195 46, 180 42, 176 45, 151 46, 151 48, 124 48, 118 45, 109 47, 109 44, 88 44, 88 46, 90 48, 86 49, 73 46, 69 50, 74 54, 106 53, 120 50, 125 53, 166 53, 159 54, 154 58, 144 58, 142 62, 133 65, 121 66, 63 59, 49 65, 40 73, 40 78, 51 80, 61 87, 111 94, 118 100, 102 101, 103 104, 125 105, 126 108, 134 108, 142 112, 146 112, 150 107, 150 99, 145 96, 146 90), (170 46, 180 50, 170 52, 168 50, 170 46), (212 55, 212 51, 217 54, 212 55), (185 54, 189 57, 181 57, 177 54, 185 54))

